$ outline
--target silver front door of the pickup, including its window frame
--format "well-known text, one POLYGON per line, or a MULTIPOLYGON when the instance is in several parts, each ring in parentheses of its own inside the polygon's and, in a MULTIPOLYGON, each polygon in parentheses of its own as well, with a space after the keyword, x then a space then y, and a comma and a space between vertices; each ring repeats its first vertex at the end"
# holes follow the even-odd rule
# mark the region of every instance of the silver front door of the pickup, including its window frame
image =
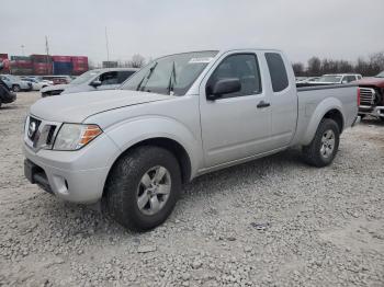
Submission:
POLYGON ((219 57, 200 85, 200 112, 205 167, 211 168, 268 151, 271 128, 270 94, 259 51, 231 51, 219 57), (237 78, 239 92, 206 99, 214 80, 237 78))

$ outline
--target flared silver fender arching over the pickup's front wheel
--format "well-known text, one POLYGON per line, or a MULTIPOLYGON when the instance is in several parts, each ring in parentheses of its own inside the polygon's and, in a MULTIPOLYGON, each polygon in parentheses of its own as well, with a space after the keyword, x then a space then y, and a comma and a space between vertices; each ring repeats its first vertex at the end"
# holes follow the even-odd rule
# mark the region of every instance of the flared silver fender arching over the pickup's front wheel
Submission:
MULTIPOLYGON (((135 117, 113 125, 104 131, 117 145, 121 152, 151 138, 168 138, 177 141, 190 157, 192 179, 203 164, 202 142, 199 134, 195 135, 174 118, 158 115, 135 117)), ((120 154, 114 160, 118 157, 120 154)))

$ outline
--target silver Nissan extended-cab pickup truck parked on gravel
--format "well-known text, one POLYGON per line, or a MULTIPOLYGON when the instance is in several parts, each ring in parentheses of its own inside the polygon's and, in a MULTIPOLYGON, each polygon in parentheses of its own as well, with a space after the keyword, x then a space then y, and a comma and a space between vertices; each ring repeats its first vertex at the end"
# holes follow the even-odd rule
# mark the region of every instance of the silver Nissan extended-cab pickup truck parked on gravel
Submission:
POLYGON ((192 51, 150 62, 120 90, 42 99, 25 123, 25 176, 75 203, 101 202, 147 230, 182 183, 292 146, 321 168, 358 119, 355 85, 296 89, 279 50, 192 51))

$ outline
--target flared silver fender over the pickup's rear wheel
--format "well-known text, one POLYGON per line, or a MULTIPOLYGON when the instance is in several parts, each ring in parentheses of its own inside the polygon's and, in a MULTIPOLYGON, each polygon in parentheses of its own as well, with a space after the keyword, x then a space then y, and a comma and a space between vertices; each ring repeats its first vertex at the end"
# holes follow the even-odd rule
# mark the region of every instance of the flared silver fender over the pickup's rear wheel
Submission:
POLYGON ((310 116, 309 123, 307 125, 307 128, 304 133, 303 139, 301 141, 302 145, 306 146, 309 145, 313 138, 315 137, 316 130, 318 125, 320 124, 320 120, 324 118, 324 116, 332 110, 337 110, 341 113, 342 122, 346 123, 345 113, 342 108, 342 103, 340 100, 336 97, 327 97, 320 102, 314 111, 312 104, 306 104, 305 106, 305 117, 310 116))

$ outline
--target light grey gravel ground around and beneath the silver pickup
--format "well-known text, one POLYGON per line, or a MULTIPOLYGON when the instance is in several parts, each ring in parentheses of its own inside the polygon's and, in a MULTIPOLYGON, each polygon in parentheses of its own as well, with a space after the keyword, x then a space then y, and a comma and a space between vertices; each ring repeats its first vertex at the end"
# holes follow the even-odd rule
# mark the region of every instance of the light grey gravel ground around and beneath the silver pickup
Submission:
POLYGON ((298 150, 196 179, 132 233, 23 176, 37 93, 0 110, 0 286, 384 286, 384 125, 348 129, 334 164, 298 150))

